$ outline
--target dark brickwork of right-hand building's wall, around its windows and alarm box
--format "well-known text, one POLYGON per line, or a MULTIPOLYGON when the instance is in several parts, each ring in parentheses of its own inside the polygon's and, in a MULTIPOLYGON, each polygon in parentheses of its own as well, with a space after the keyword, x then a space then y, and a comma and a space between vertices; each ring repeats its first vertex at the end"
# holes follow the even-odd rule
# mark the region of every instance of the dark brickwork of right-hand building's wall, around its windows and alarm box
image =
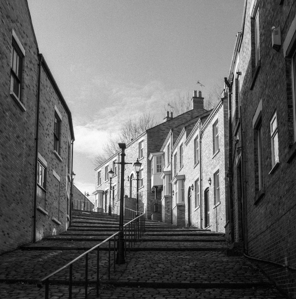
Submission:
MULTIPOLYGON (((235 241, 244 238, 245 250, 250 256, 295 267, 296 162, 291 156, 295 144, 292 72, 290 58, 284 58, 283 55, 283 43, 295 17, 296 4, 292 1, 283 1, 282 5, 279 5, 278 1, 259 1, 261 66, 256 80, 253 80, 255 69, 253 28, 250 20, 251 2, 247 2, 244 32, 239 50, 241 125, 237 132, 236 127, 233 127, 232 131, 235 241), (282 46, 277 52, 271 47, 271 27, 279 25, 282 46), (261 149, 264 194, 258 199, 253 117, 260 101, 262 101, 261 149), (278 123, 279 164, 271 171, 270 120, 275 111, 278 123), (235 144, 237 138, 238 143, 235 144), (236 149, 241 146, 243 152, 237 151, 236 149), (287 162, 289 157, 291 159, 287 162), (243 185, 239 184, 241 166, 244 174, 243 185), (244 191, 242 200, 240 200, 241 187, 244 191), (241 211, 241 208, 244 210, 241 211), (246 219, 244 222, 243 217, 246 219)), ((261 266, 280 287, 289 292, 292 298, 296 297, 296 280, 291 270, 271 264, 261 266)))

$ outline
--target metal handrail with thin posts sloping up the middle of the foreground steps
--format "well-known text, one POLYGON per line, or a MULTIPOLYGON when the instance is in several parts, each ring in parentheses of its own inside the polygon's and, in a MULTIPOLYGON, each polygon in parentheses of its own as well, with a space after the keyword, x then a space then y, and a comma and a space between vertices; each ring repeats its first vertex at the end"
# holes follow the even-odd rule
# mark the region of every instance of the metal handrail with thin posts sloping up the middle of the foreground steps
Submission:
MULTIPOLYGON (((133 211, 135 212, 135 211, 133 211)), ((135 245, 135 242, 137 239, 141 238, 142 234, 145 232, 145 217, 144 213, 141 213, 141 215, 137 216, 136 218, 130 220, 126 224, 123 225, 123 233, 124 233, 124 250, 125 250, 125 256, 127 250, 130 249, 130 247, 135 245), (127 246, 128 242, 128 246, 127 246)), ((54 276, 55 274, 59 273, 60 271, 66 269, 69 267, 69 299, 72 299, 72 287, 73 287, 73 264, 80 260, 82 257, 85 256, 85 275, 84 275, 84 298, 87 299, 87 287, 88 287, 88 254, 94 250, 97 252, 97 259, 96 259, 96 296, 99 296, 99 285, 100 285, 100 280, 99 280, 99 247, 106 242, 109 242, 108 246, 108 280, 110 280, 110 271, 111 271, 111 240, 114 242, 114 254, 113 254, 113 272, 115 273, 115 264, 116 264, 116 241, 118 241, 118 235, 120 234, 120 231, 117 231, 115 234, 112 236, 108 237, 101 243, 97 244, 93 248, 90 248, 89 250, 85 251, 83 254, 79 255, 76 257, 74 260, 70 261, 66 265, 62 266, 58 270, 50 273, 49 275, 43 277, 42 279, 39 280, 37 283, 39 287, 41 287, 43 284, 45 284, 45 299, 49 299, 49 279, 54 276), (116 238, 117 237, 117 238, 116 238)))

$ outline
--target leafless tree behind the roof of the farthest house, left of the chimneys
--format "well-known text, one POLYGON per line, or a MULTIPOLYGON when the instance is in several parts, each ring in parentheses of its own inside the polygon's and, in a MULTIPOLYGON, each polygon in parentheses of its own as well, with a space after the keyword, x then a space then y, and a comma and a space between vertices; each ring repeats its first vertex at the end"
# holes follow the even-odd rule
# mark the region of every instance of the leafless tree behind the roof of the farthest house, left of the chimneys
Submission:
POLYGON ((118 134, 109 132, 108 139, 102 147, 103 153, 95 155, 93 165, 98 167, 116 154, 119 151, 118 143, 129 143, 147 129, 156 126, 156 124, 154 116, 150 113, 143 113, 138 120, 128 119, 121 125, 118 134))

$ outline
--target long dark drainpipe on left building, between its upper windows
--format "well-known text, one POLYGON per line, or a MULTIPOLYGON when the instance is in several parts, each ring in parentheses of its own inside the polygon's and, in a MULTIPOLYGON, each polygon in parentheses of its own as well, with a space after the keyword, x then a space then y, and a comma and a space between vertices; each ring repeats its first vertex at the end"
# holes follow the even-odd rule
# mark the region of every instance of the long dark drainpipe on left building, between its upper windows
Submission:
POLYGON ((37 166, 38 166, 38 136, 39 136, 39 106, 40 106, 40 77, 42 54, 39 54, 38 63, 38 93, 37 93, 37 120, 36 120, 36 152, 35 152, 35 179, 34 179, 34 215, 33 215, 33 242, 36 242, 36 206, 37 206, 37 166))

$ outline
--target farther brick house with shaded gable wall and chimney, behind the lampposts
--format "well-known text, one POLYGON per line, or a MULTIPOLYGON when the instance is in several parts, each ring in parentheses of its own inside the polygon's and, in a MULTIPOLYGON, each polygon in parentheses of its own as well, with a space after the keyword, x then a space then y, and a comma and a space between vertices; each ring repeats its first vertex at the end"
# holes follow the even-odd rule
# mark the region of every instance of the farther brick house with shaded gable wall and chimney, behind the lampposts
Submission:
MULTIPOLYGON (((141 180, 139 181, 139 210, 143 212, 145 210, 153 210, 156 200, 159 206, 158 213, 161 213, 160 203, 162 190, 160 186, 162 186, 162 179, 159 178, 157 181, 155 181, 154 179, 156 179, 157 176, 160 176, 164 160, 163 153, 161 152, 159 155, 157 155, 157 153, 160 151, 163 142, 167 138, 167 134, 171 129, 181 128, 182 130, 182 128, 186 126, 187 123, 197 121, 200 115, 207 113, 207 111, 203 109, 203 98, 193 97, 191 108, 192 109, 188 112, 185 112, 174 118, 172 113, 169 114, 169 112, 167 112, 167 116, 164 118, 163 123, 154 126, 153 128, 147 129, 143 134, 139 135, 137 138, 133 139, 129 144, 126 145, 125 161, 132 164, 126 164, 125 166, 125 207, 134 210, 136 209, 136 173, 133 164, 138 158, 142 164, 139 174, 139 178, 141 180), (152 154, 151 159, 149 159, 150 154, 152 154), (157 176, 154 176, 153 174, 156 173, 157 176)), ((177 134, 174 134, 175 140, 178 137, 179 132, 177 134)), ((121 151, 117 152, 114 156, 109 158, 102 165, 95 169, 96 190, 93 192, 93 194, 95 195, 95 210, 97 210, 97 208, 102 208, 103 211, 108 211, 110 190, 112 192, 112 207, 114 207, 115 211, 117 207, 119 207, 120 171, 118 170, 120 170, 120 166, 119 164, 114 164, 114 162, 117 163, 118 161, 120 161, 120 154, 121 151), (108 171, 110 169, 113 169, 114 171, 114 176, 111 180, 111 189, 110 181, 108 178, 108 171)), ((156 214, 154 215, 154 217, 156 217, 156 214)))

